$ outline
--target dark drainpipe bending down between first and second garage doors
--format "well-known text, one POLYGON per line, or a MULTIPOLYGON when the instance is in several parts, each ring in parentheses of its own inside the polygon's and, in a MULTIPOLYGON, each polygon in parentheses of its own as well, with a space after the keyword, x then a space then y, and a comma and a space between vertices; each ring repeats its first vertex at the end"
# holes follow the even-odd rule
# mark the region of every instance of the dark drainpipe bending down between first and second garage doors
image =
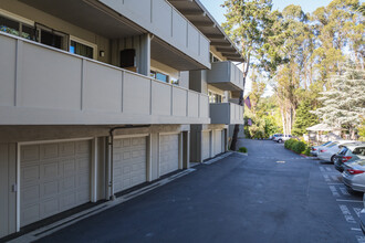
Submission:
POLYGON ((108 194, 109 196, 109 200, 115 200, 115 194, 114 194, 114 161, 113 161, 113 142, 114 142, 114 130, 117 129, 131 129, 131 128, 142 128, 142 127, 150 127, 150 125, 126 125, 123 127, 113 127, 109 129, 109 136, 108 136, 108 141, 107 141, 107 146, 108 146, 108 169, 111 171, 111 178, 108 181, 108 194))

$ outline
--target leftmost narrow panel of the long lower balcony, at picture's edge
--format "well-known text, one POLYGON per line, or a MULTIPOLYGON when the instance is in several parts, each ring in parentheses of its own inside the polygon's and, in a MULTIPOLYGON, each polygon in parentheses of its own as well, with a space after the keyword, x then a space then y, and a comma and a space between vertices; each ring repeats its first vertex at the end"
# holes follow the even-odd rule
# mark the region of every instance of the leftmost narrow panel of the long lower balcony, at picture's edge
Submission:
POLYGON ((0 75, 1 75, 1 88, 0 88, 0 104, 13 105, 15 102, 15 72, 9 72, 15 70, 17 53, 14 39, 1 39, 0 45, 0 75))

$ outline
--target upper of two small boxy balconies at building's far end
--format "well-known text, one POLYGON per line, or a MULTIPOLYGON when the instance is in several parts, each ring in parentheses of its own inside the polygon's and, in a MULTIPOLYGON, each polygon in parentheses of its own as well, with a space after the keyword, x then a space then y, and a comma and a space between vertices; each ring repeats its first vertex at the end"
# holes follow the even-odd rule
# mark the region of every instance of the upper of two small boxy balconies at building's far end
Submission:
POLYGON ((211 63, 211 70, 207 71, 207 82, 222 91, 243 89, 243 74, 230 61, 211 63))

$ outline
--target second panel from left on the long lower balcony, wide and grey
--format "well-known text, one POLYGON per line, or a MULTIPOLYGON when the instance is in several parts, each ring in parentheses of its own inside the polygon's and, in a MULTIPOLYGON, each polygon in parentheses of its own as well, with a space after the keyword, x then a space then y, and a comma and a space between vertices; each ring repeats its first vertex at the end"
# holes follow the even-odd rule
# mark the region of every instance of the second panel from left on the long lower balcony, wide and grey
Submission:
POLYGON ((82 60, 29 42, 19 46, 19 105, 80 110, 82 60))

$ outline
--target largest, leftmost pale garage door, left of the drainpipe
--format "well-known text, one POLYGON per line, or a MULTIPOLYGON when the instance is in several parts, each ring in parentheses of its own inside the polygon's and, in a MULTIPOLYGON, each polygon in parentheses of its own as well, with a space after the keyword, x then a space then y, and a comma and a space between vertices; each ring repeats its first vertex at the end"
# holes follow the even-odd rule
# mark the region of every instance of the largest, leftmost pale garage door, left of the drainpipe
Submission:
POLYGON ((23 145, 21 226, 90 201, 91 141, 23 145))

